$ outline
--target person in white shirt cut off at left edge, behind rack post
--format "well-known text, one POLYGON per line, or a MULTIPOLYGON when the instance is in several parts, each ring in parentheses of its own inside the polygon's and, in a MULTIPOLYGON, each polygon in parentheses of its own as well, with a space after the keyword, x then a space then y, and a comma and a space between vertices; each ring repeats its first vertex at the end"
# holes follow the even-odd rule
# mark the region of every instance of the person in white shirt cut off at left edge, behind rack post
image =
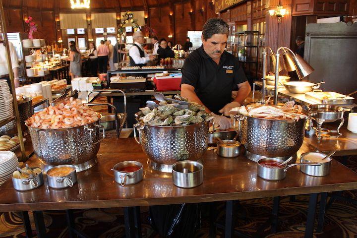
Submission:
MULTIPOLYGON (((4 46, 4 44, 5 43, 1 40, 0 41, 0 79, 6 79, 7 84, 11 88, 8 63, 6 58, 6 47, 4 46)), ((20 81, 18 77, 19 64, 18 64, 15 47, 12 45, 11 42, 9 42, 9 51, 10 51, 12 72, 14 74, 15 88, 17 88, 18 86, 20 86, 20 81)))

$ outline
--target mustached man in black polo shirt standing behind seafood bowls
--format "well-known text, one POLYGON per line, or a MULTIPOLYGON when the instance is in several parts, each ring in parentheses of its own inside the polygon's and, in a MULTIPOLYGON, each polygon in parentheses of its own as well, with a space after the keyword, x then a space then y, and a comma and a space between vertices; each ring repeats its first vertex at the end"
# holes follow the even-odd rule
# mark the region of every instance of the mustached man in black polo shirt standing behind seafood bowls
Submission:
POLYGON ((193 51, 182 67, 181 96, 206 107, 214 114, 221 129, 230 128, 231 120, 217 114, 230 115, 240 107, 250 92, 250 85, 239 61, 225 51, 229 26, 219 18, 211 18, 203 26, 202 46, 193 51), (232 102, 232 91, 238 95, 232 102))

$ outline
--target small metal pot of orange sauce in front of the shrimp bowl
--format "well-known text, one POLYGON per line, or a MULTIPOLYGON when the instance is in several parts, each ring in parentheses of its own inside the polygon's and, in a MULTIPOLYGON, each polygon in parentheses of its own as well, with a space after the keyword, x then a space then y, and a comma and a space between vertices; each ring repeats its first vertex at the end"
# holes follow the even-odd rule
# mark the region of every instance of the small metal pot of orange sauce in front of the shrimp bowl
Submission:
POLYGON ((76 168, 73 165, 58 165, 47 171, 47 181, 52 188, 72 187, 77 182, 76 168), (49 176, 48 173, 55 168, 69 167, 73 171, 66 176, 49 176))

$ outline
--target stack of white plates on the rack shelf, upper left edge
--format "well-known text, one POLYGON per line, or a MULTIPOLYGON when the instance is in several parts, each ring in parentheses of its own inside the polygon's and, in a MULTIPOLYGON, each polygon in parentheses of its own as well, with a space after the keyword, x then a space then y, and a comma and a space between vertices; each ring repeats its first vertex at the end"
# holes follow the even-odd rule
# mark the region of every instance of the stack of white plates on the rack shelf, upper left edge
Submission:
POLYGON ((5 79, 0 80, 0 120, 11 118, 12 110, 12 96, 10 88, 5 79))

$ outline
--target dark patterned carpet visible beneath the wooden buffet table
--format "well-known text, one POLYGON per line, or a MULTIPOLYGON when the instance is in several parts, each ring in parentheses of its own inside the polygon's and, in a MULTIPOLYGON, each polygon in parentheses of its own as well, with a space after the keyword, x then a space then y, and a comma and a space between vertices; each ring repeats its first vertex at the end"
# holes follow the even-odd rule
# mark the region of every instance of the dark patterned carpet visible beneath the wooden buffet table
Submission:
MULTIPOLYGON (((351 157, 347 166, 357 171, 357 157, 351 157)), ((343 196, 352 199, 357 198, 357 192, 346 191, 343 196)), ((225 203, 217 204, 219 223, 224 224, 225 203)), ((254 235, 257 228, 263 225, 272 210, 272 199, 251 199, 240 201, 241 206, 236 212, 236 230, 245 235, 254 235)), ((306 223, 306 212, 308 196, 297 196, 294 202, 289 197, 283 197, 280 202, 278 232, 269 234, 270 227, 255 237, 265 238, 301 238, 304 234, 306 223)), ((208 238, 209 217, 207 205, 201 205, 201 223, 196 232, 196 238, 208 238)), ((124 238, 123 211, 119 208, 75 210, 75 225, 78 230, 83 231, 93 238, 124 238)), ((63 211, 45 212, 45 225, 47 237, 66 238, 65 214, 63 211)), ((35 227, 30 213, 33 233, 35 227)), ((159 238, 149 223, 148 207, 141 208, 142 234, 144 238, 159 238)), ((1 238, 24 238, 22 220, 15 212, 2 213, 0 215, 0 237, 1 238)), ((217 231, 217 238, 224 237, 221 229, 217 231)), ((327 210, 324 229, 322 233, 314 233, 316 238, 354 238, 357 237, 357 206, 347 201, 336 200, 327 210)))

